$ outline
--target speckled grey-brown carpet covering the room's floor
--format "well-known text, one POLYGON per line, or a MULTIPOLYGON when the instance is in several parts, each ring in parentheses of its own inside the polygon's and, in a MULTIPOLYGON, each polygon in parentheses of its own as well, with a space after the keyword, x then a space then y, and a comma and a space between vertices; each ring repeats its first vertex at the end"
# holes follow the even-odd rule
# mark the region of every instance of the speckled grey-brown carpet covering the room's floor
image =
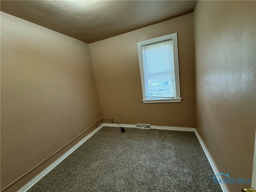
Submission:
POLYGON ((221 192, 194 132, 104 127, 28 192, 221 192))

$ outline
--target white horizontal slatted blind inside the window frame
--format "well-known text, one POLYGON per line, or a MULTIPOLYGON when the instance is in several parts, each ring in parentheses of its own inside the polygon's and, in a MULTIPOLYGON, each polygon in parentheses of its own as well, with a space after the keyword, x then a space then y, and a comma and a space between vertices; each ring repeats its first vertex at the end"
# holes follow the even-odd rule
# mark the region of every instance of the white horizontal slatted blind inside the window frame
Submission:
POLYGON ((175 98, 172 39, 142 46, 146 99, 175 98))

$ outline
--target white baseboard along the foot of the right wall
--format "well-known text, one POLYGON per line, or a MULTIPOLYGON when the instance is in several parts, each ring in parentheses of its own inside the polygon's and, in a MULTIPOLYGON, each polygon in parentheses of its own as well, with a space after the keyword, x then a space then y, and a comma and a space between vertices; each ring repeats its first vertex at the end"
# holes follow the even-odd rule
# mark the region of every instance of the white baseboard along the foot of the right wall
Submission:
MULTIPOLYGON (((200 142, 200 144, 201 144, 201 146, 202 146, 202 148, 203 148, 203 150, 204 150, 204 153, 206 154, 206 157, 207 157, 207 159, 208 159, 210 165, 212 166, 212 170, 214 171, 214 174, 215 174, 215 175, 220 174, 220 172, 219 172, 217 166, 215 165, 214 161, 212 160, 212 156, 211 156, 210 153, 208 152, 208 150, 207 150, 207 148, 206 148, 206 146, 205 146, 203 140, 201 139, 201 137, 200 137, 200 135, 198 134, 198 132, 196 131, 196 129, 195 129, 195 133, 196 133, 196 136, 197 136, 197 138, 198 138, 198 140, 199 140, 199 142, 200 142)), ((218 178, 218 179, 221 179, 221 176, 219 175, 219 176, 217 176, 217 178, 218 178)), ((221 187, 221 189, 222 189, 223 192, 229 192, 229 190, 228 190, 228 188, 227 188, 227 186, 226 186, 225 183, 220 183, 220 187, 221 187)))

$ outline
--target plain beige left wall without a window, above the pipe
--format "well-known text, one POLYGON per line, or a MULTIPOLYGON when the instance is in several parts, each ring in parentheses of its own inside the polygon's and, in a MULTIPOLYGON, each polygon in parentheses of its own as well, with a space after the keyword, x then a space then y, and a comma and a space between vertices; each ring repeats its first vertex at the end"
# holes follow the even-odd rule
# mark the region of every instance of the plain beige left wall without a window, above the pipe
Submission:
POLYGON ((1 189, 100 118, 89 45, 1 12, 1 189))

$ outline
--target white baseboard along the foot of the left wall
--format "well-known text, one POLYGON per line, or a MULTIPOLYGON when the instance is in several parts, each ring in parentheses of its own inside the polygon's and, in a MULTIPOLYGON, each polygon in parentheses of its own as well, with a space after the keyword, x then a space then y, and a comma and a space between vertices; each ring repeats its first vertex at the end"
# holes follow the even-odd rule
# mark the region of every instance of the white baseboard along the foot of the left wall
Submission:
POLYGON ((80 142, 78 142, 74 147, 68 150, 65 154, 63 154, 60 158, 58 158, 55 162, 53 162, 50 166, 48 166, 45 170, 43 170, 40 174, 38 174, 35 178, 33 178, 30 182, 28 182, 25 186, 20 188, 18 192, 26 192, 30 189, 36 182, 38 182, 43 176, 45 176, 48 172, 50 172, 54 167, 56 167, 62 160, 64 160, 67 156, 69 156, 76 148, 82 145, 86 140, 88 140, 91 136, 93 136, 98 130, 103 127, 103 124, 98 126, 95 130, 93 130, 90 134, 88 134, 85 138, 83 138, 80 142))

